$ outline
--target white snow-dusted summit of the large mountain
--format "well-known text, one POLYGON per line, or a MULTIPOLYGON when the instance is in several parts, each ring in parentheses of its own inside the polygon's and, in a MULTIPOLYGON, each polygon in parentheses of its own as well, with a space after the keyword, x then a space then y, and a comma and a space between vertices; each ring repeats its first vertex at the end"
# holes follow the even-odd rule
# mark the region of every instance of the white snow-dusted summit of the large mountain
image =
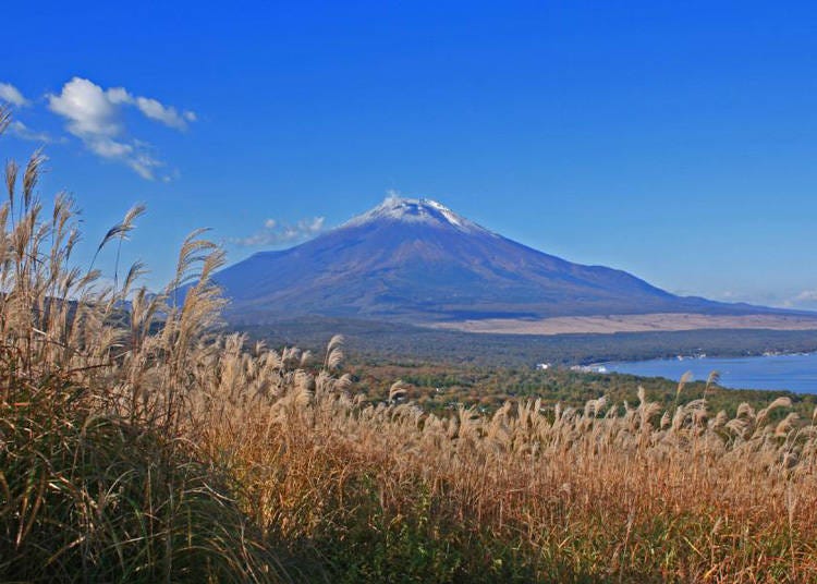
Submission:
POLYGON ((403 198, 390 195, 374 209, 358 215, 343 227, 355 227, 376 220, 427 223, 435 227, 452 227, 460 231, 485 232, 476 223, 430 198, 403 198))

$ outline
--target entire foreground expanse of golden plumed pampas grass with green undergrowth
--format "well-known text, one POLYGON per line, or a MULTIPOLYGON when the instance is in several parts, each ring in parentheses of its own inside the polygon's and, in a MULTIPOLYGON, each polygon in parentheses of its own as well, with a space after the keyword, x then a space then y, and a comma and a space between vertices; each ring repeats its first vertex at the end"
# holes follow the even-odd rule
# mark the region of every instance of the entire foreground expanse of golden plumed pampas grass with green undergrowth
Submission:
POLYGON ((112 287, 72 268, 40 163, 10 163, 0 208, 0 580, 817 579, 817 426, 788 398, 365 399, 340 338, 316 358, 218 333, 200 234, 157 295, 138 265, 112 287))

